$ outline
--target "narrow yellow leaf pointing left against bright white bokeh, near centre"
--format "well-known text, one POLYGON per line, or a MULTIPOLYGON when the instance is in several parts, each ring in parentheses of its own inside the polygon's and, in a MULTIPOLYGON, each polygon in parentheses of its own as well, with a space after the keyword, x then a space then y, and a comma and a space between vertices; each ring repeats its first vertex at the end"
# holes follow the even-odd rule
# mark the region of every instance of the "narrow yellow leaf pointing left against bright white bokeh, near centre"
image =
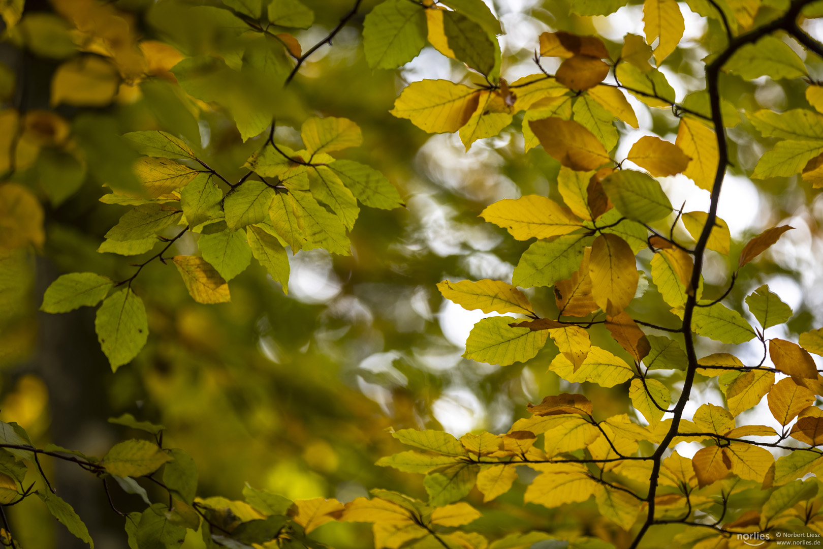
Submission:
POLYGON ((484 313, 534 314, 532 304, 523 292, 503 281, 444 280, 437 285, 437 289, 447 300, 453 301, 463 309, 481 309, 484 313))

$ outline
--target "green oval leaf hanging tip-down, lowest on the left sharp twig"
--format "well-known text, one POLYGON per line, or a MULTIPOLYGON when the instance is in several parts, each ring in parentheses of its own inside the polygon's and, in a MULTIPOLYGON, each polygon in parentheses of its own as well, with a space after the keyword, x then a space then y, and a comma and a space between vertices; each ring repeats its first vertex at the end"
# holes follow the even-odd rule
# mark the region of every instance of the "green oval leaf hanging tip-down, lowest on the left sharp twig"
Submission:
POLYGON ((143 300, 130 288, 109 295, 97 309, 95 331, 112 371, 117 371, 146 345, 149 326, 143 300))

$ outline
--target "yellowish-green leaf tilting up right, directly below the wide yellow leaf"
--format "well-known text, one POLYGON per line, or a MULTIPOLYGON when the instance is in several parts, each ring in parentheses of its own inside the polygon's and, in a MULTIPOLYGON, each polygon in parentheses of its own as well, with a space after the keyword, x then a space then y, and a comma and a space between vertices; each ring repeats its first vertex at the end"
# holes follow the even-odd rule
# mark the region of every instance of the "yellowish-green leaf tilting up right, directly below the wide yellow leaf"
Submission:
POLYGON ((580 267, 584 250, 592 240, 591 236, 580 234, 537 240, 520 257, 512 284, 523 288, 551 286, 570 278, 580 267))

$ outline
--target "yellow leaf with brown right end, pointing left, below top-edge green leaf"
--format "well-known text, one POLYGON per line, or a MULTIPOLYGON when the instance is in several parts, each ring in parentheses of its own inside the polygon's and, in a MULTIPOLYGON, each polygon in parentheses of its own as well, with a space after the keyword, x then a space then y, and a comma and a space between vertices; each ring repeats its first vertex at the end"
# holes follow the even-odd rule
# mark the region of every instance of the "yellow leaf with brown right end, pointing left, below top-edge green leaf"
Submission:
POLYGON ((463 84, 421 80, 406 86, 389 112, 398 119, 411 120, 425 132, 451 133, 468 122, 479 99, 480 90, 463 84))

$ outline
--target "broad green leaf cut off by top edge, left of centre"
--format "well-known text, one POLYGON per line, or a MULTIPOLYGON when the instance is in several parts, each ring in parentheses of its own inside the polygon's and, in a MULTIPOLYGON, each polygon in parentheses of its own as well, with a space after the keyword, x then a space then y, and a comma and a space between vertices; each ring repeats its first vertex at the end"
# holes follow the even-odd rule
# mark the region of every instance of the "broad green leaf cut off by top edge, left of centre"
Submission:
POLYGON ((426 38, 425 8, 386 0, 365 16, 363 51, 371 68, 397 68, 420 53, 426 38))

